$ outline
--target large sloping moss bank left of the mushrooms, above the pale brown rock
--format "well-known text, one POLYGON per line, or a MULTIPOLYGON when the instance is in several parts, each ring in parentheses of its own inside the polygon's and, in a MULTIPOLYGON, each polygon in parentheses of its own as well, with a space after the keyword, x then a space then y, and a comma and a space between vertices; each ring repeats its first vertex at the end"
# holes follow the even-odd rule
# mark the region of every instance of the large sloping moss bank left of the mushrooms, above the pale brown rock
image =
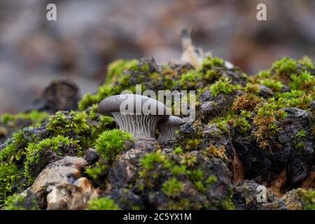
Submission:
POLYGON ((0 181, 0 203, 30 186, 51 161, 65 155, 83 156, 99 134, 115 127, 112 118, 96 111, 97 106, 92 106, 87 111, 57 112, 45 123, 13 134, 0 152, 0 175, 4 175, 0 181))

